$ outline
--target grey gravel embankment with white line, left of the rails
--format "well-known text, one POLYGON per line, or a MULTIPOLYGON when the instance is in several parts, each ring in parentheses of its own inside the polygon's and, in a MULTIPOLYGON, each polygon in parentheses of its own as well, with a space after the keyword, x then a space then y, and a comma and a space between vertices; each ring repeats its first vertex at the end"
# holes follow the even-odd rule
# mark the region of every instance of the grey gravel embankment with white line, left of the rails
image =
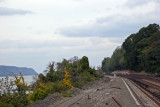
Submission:
MULTIPOLYGON (((148 80, 144 80, 147 81, 148 80)), ((156 80, 157 81, 157 80, 156 80)), ((152 82, 154 83, 154 82, 152 82)), ((146 90, 124 77, 105 76, 70 98, 62 98, 48 107, 159 107, 146 90)), ((38 107, 44 107, 39 105, 38 107)))

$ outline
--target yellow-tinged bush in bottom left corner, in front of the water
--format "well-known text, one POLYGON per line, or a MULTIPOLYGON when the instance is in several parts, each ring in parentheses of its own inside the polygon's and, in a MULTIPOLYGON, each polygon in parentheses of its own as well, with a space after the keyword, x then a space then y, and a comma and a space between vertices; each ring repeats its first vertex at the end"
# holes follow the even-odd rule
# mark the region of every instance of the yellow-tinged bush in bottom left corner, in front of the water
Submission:
POLYGON ((14 82, 9 82, 6 77, 5 80, 0 81, 1 87, 6 88, 6 93, 0 96, 0 107, 25 107, 29 104, 26 94, 29 87, 24 82, 23 75, 20 77, 15 75, 15 79, 14 82))

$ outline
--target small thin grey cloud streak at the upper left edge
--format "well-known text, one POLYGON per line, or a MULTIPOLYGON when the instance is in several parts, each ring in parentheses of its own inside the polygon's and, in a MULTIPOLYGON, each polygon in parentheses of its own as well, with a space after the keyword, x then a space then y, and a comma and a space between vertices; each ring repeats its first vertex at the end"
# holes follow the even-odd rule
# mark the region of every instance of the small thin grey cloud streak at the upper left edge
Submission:
POLYGON ((32 12, 27 10, 21 10, 21 9, 0 7, 0 16, 24 15, 28 13, 30 14, 32 12))

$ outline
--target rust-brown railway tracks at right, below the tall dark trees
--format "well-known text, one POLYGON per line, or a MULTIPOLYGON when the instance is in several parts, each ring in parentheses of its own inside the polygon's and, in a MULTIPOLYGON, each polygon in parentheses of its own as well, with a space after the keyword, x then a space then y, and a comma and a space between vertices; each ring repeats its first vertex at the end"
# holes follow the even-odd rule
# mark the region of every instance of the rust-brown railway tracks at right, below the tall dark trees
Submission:
POLYGON ((129 79, 135 86, 160 106, 160 78, 154 76, 127 75, 121 76, 129 79))

